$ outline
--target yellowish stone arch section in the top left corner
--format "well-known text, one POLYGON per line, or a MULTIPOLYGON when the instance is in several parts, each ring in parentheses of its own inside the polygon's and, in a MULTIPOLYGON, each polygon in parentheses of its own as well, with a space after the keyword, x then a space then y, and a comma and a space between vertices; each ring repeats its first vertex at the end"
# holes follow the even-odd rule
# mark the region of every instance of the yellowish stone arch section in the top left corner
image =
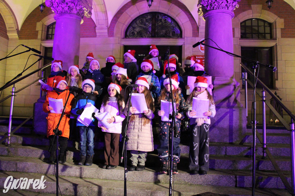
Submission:
POLYGON ((5 0, 0 3, 0 14, 2 15, 9 39, 18 39, 19 38, 19 26, 17 19, 5 0))

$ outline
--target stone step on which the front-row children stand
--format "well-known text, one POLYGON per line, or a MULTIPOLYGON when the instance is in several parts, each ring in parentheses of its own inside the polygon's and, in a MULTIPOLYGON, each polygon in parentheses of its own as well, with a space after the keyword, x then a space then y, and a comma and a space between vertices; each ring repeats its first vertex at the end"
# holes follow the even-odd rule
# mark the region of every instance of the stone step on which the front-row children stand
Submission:
MULTIPOLYGON (((54 164, 44 163, 40 159, 29 159, 22 157, 2 157, 0 170, 5 172, 27 172, 45 175, 54 175, 54 164)), ((117 167, 113 170, 106 170, 93 164, 92 166, 78 166, 66 162, 59 164, 59 175, 64 177, 91 178, 101 180, 124 180, 124 167, 117 167)), ((250 170, 209 170, 207 175, 190 175, 188 170, 178 170, 177 175, 173 175, 175 185, 206 185, 225 187, 251 187, 252 176, 250 170)), ((286 177, 288 182, 291 178, 288 172, 286 177)), ((274 172, 256 171, 258 188, 284 189, 283 182, 274 172)), ((127 173, 129 182, 143 183, 169 183, 169 176, 161 174, 153 167, 146 167, 142 172, 133 171, 127 173)), ((89 179, 92 182, 92 180, 89 179)), ((3 183, 2 183, 3 185, 3 183)), ((66 193, 65 193, 66 194, 66 193)))

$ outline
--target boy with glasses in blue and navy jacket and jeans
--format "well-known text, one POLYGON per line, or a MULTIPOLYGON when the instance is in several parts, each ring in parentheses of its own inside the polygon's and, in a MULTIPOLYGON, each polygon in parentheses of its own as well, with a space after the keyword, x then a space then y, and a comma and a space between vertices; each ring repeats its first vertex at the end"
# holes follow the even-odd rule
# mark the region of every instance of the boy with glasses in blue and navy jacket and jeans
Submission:
MULTIPOLYGON (((72 113, 76 115, 81 115, 83 109, 87 103, 91 103, 95 106, 96 97, 93 95, 95 84, 91 79, 86 79, 82 82, 83 92, 78 94, 76 100, 72 106, 72 113)), ((77 120, 77 127, 80 134, 80 161, 78 165, 92 165, 93 155, 94 155, 94 119, 86 127, 84 124, 77 120), (86 146, 87 144, 87 146, 86 146), (87 151, 86 151, 87 148, 87 151), (85 162, 86 160, 86 162, 85 162), (84 164, 85 163, 85 164, 84 164)))

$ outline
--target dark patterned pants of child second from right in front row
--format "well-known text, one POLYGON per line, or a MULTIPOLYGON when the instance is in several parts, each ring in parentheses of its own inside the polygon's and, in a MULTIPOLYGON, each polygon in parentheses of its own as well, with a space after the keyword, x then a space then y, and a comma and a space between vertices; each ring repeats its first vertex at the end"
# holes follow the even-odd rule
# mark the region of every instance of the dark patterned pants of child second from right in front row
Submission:
MULTIPOLYGON (((167 162, 168 157, 169 157, 169 140, 171 139, 171 136, 168 139, 168 123, 169 126, 171 127, 171 122, 162 122, 160 121, 160 134, 159 134, 159 141, 160 141, 160 146, 158 147, 158 157, 160 158, 160 162, 167 162)), ((176 119, 176 127, 177 131, 179 132, 180 130, 180 119, 176 119)), ((180 137, 174 137, 173 138, 173 162, 174 163, 179 163, 180 160, 180 137)))

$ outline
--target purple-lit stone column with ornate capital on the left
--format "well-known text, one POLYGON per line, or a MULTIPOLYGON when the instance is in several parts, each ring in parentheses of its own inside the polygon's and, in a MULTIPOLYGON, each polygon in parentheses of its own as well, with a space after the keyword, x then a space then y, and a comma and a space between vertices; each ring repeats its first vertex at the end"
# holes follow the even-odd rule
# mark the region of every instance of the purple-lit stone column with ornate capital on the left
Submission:
POLYGON ((90 5, 86 0, 46 0, 45 4, 55 13, 52 57, 62 60, 63 70, 68 71, 68 67, 79 63, 80 26, 84 15, 91 17, 87 8, 90 5))

